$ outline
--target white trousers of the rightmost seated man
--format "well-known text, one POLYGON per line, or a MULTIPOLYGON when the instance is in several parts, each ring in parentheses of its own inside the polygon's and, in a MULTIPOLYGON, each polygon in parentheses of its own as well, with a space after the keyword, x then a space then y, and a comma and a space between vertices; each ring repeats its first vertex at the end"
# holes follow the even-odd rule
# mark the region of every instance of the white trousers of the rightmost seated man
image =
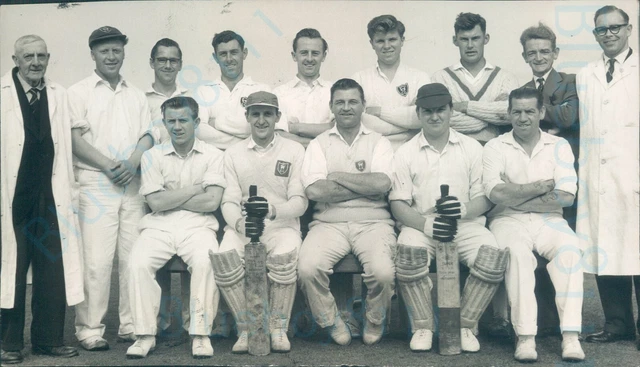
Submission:
POLYGON ((560 214, 523 213, 493 218, 489 229, 509 248, 505 273, 511 323, 518 335, 536 335, 538 304, 534 293, 538 265, 533 251, 549 260, 562 331, 582 330, 583 269, 578 237, 560 214))

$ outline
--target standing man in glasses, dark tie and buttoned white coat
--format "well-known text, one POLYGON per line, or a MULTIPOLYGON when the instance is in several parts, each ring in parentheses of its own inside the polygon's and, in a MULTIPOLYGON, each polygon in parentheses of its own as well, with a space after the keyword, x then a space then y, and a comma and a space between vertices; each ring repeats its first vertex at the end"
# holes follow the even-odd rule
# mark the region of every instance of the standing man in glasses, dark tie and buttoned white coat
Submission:
MULTIPOLYGON (((624 10, 596 11, 593 34, 603 55, 576 78, 580 108, 580 180, 577 232, 586 239, 585 271, 596 274, 605 324, 587 342, 633 340, 632 283, 640 301, 638 243, 638 53, 624 10)), ((640 327, 640 317, 637 323, 640 327)))

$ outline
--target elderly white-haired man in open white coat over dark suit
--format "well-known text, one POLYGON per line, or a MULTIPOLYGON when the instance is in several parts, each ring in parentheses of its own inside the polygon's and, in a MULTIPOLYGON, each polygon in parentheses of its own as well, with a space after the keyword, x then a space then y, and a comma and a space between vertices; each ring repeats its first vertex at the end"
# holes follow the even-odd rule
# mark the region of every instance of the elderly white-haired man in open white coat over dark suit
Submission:
POLYGON ((13 61, 1 81, 3 365, 23 361, 30 263, 33 354, 78 355, 63 345, 64 317, 67 303, 84 299, 66 92, 44 78, 39 36, 20 37, 13 61))

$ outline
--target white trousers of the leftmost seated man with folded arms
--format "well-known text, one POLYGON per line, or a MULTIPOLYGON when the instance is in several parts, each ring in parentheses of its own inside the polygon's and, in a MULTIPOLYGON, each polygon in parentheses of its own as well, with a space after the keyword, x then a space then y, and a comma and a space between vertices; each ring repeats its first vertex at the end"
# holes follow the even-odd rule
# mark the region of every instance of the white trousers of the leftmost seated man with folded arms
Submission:
POLYGON ((189 335, 209 335, 218 312, 220 294, 209 260, 209 250, 218 247, 216 233, 209 228, 147 228, 131 250, 129 297, 136 335, 156 335, 162 289, 156 271, 178 255, 191 273, 189 335))

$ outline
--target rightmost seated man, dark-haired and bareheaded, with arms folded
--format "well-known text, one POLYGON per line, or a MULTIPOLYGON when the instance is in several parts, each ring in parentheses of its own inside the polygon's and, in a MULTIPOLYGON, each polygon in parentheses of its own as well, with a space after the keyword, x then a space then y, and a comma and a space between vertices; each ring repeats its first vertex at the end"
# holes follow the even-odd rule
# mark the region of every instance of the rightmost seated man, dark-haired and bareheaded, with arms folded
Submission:
POLYGON ((562 208, 573 203, 577 178, 569 144, 540 130, 545 112, 542 94, 536 89, 524 87, 509 95, 513 130, 484 147, 484 192, 497 204, 487 217, 498 244, 510 249, 505 282, 518 337, 515 359, 533 362, 538 358, 535 251, 549 260, 547 270, 556 289, 562 330, 562 359, 581 361, 582 251, 578 237, 562 218, 562 208))

